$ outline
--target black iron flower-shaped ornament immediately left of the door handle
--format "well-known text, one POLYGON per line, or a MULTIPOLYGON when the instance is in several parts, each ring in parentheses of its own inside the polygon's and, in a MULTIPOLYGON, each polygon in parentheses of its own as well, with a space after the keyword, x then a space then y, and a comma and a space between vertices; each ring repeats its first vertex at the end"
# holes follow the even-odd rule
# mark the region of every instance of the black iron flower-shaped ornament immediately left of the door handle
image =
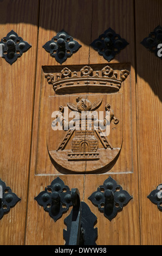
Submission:
POLYGON ((54 221, 61 218, 63 212, 68 211, 69 206, 72 205, 70 189, 64 185, 64 182, 59 177, 38 194, 35 200, 39 205, 43 206, 43 209, 49 213, 49 216, 54 221))

